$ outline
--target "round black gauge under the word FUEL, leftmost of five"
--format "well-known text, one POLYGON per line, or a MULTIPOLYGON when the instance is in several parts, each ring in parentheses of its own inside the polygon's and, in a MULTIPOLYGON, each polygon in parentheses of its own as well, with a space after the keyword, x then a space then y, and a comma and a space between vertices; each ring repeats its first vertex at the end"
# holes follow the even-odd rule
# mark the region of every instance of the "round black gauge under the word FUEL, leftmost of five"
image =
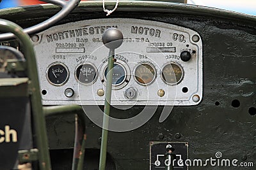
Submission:
POLYGON ((54 62, 47 67, 47 80, 56 86, 64 85, 68 81, 68 67, 61 62, 54 62))

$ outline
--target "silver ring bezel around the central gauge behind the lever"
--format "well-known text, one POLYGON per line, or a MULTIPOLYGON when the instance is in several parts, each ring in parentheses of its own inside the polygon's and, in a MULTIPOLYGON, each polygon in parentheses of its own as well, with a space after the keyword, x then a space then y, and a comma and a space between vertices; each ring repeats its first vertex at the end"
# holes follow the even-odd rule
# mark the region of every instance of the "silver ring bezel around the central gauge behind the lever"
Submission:
MULTIPOLYGON (((122 89, 123 87, 125 87, 127 85, 127 83, 129 83, 130 78, 131 78, 131 71, 130 71, 130 68, 127 65, 127 63, 122 61, 122 60, 116 59, 114 64, 120 65, 125 71, 124 80, 122 80, 122 82, 118 83, 117 85, 112 84, 112 89, 113 90, 119 90, 119 89, 122 89), (126 81, 126 80, 128 80, 128 81, 126 81)), ((104 80, 103 84, 105 86, 106 86, 106 82, 107 82, 106 77, 105 77, 105 71, 106 71, 107 67, 108 67, 108 62, 105 62, 104 64, 102 64, 101 69, 100 69, 100 73, 101 73, 100 74, 100 80, 104 80)))

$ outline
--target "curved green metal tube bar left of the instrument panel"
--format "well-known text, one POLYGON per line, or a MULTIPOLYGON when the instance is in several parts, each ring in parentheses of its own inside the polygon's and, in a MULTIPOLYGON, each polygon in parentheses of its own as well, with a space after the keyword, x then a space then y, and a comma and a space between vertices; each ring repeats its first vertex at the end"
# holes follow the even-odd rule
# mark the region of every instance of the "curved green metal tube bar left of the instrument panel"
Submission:
POLYGON ((36 147, 39 150, 38 160, 40 169, 51 169, 51 160, 49 158, 49 149, 47 143, 45 118, 42 111, 42 103, 40 100, 40 89, 38 82, 38 73, 36 69, 35 52, 31 44, 28 34, 22 32, 22 28, 19 25, 14 24, 8 20, 0 20, 1 31, 12 32, 19 38, 24 45, 23 52, 26 56, 26 64, 28 69, 28 89, 31 96, 31 107, 33 113, 33 123, 35 125, 36 133, 36 147))

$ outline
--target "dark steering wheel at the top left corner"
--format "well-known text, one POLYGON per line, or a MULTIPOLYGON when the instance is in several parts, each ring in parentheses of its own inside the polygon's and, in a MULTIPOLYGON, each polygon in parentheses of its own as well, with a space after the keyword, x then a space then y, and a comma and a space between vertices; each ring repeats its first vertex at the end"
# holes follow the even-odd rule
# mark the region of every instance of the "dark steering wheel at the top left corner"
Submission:
MULTIPOLYGON (((56 13, 51 18, 45 20, 44 22, 34 25, 32 27, 28 27, 24 29, 24 32, 27 34, 34 34, 36 32, 44 31, 45 29, 51 27, 51 25, 56 24, 58 21, 60 21, 62 18, 66 17, 76 6, 79 4, 81 0, 40 0, 45 3, 51 3, 56 4, 57 6, 60 6, 62 9, 56 13)), ((12 33, 4 33, 0 34, 0 40, 6 40, 6 39, 12 39, 15 38, 14 34, 12 33)))

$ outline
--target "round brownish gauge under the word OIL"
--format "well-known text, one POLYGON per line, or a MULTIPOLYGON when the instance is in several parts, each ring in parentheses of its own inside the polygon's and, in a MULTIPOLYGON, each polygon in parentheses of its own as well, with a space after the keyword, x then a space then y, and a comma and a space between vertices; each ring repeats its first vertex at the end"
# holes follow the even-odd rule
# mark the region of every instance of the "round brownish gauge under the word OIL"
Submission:
POLYGON ((134 72, 135 80, 141 85, 149 85, 156 79, 156 68, 148 63, 140 63, 134 72))

